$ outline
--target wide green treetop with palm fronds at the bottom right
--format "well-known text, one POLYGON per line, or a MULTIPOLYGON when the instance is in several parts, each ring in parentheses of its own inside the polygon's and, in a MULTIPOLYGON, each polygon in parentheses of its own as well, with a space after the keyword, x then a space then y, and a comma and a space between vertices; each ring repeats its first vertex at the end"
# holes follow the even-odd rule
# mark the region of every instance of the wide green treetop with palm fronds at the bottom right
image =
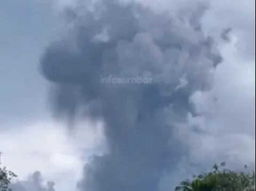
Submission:
MULTIPOLYGON (((175 190, 180 191, 253 191, 255 190, 255 172, 235 172, 224 169, 226 163, 214 164, 210 172, 185 180, 175 190), (222 168, 222 169, 220 169, 222 168)), ((247 166, 245 165, 245 168, 247 166)))

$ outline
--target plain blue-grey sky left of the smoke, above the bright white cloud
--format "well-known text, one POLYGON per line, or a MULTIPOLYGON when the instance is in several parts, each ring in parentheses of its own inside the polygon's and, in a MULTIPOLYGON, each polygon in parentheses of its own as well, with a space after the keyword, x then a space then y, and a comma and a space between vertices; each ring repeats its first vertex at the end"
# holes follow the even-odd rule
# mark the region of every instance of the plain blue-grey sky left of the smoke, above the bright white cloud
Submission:
POLYGON ((38 57, 52 36, 54 17, 49 6, 33 1, 2 1, 0 9, 1 123, 42 118, 45 81, 38 57))

